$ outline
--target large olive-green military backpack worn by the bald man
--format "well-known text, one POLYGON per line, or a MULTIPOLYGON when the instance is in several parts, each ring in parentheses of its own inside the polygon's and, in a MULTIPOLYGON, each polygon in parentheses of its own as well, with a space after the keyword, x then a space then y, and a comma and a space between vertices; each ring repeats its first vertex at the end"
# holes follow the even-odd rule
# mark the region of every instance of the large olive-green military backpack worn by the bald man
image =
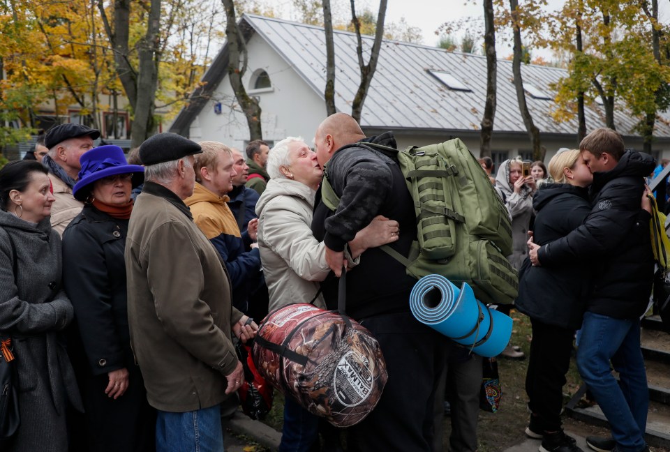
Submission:
MULTIPOLYGON (((386 253, 422 278, 433 273, 456 286, 468 283, 482 303, 516 299, 519 277, 505 256, 512 254, 512 225, 502 199, 477 158, 458 138, 404 151, 374 143, 356 143, 398 161, 417 215, 417 240, 410 256, 389 246, 386 253)), ((335 211, 339 197, 327 177, 322 200, 335 211)))

